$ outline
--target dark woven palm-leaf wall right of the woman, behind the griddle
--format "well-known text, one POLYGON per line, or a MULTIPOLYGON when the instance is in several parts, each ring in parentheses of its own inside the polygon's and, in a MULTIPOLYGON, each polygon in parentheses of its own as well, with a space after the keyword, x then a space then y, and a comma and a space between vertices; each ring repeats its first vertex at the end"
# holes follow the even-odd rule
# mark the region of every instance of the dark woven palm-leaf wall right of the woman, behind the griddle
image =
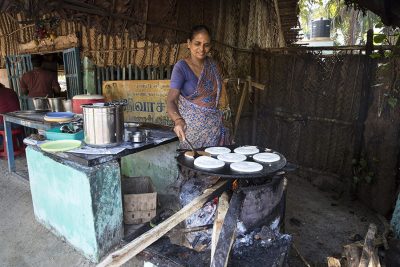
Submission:
POLYGON ((368 56, 260 52, 253 64, 254 77, 267 88, 255 91, 245 108, 238 143, 276 149, 306 168, 351 176, 361 145, 358 118, 368 56))

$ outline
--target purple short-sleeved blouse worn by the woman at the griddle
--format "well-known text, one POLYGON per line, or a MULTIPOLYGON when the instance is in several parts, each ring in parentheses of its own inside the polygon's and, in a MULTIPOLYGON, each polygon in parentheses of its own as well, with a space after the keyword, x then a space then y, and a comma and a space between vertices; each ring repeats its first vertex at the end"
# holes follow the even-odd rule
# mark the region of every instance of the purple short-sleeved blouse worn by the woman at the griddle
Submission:
POLYGON ((198 82, 197 76, 184 59, 176 62, 171 74, 171 88, 178 89, 184 97, 194 93, 198 82))

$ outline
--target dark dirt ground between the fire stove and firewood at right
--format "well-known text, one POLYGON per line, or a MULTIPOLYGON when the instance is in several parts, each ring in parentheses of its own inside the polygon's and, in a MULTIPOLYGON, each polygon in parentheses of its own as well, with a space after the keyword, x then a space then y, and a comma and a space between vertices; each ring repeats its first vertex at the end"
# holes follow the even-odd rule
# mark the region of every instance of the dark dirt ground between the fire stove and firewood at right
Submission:
MULTIPOLYGON (((340 259, 343 245, 354 235, 364 238, 370 223, 382 228, 375 213, 348 195, 322 192, 296 174, 288 175, 286 232, 311 266, 327 266, 326 257, 340 259)), ((291 250, 290 266, 304 266, 291 250)))

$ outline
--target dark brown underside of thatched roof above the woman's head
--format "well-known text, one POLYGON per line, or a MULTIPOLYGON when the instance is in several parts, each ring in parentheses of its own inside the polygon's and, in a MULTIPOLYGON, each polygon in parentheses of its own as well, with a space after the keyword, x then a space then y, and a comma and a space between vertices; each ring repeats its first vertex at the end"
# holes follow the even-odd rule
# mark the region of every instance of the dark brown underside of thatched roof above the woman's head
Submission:
MULTIPOLYGON (((295 36, 290 29, 298 24, 296 0, 5 0, 0 6, 0 12, 23 12, 29 19, 20 21, 21 26, 48 14, 57 14, 62 19, 95 27, 104 34, 121 34, 126 30, 130 38, 137 40, 160 42, 168 39, 170 42, 181 42, 186 40, 186 33, 192 25, 207 24, 210 28, 217 29, 227 12, 236 11, 236 16, 240 16, 241 11, 249 12, 252 4, 263 2, 276 3, 285 40, 288 43, 294 41, 295 36)), ((274 5, 270 7, 274 10, 274 5)), ((246 23, 249 18, 242 19, 244 21, 241 23, 246 23)), ((269 22, 274 20, 272 18, 269 22)))

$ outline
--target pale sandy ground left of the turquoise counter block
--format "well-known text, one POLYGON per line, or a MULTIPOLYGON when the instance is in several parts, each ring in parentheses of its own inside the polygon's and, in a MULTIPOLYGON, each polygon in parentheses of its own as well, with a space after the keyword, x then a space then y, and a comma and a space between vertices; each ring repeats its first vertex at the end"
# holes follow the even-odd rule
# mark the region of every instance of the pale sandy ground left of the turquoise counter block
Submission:
MULTIPOLYGON (((26 161, 18 158, 17 172, 27 175, 26 161)), ((0 265, 92 266, 66 242, 36 222, 29 183, 8 173, 0 160, 0 265)))

